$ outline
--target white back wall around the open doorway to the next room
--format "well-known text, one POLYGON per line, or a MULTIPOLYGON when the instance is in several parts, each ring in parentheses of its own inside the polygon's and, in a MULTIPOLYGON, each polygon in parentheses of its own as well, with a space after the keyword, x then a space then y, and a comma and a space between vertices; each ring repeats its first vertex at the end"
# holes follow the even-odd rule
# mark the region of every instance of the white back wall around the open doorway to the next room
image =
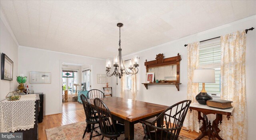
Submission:
POLYGON ((50 72, 51 84, 29 84, 33 85, 34 93, 46 94, 46 115, 56 114, 62 111, 62 62, 78 63, 92 66, 92 89, 102 89, 104 84, 97 84, 97 74, 105 72, 105 60, 59 53, 32 47, 19 47, 19 73, 28 76, 29 71, 50 72))

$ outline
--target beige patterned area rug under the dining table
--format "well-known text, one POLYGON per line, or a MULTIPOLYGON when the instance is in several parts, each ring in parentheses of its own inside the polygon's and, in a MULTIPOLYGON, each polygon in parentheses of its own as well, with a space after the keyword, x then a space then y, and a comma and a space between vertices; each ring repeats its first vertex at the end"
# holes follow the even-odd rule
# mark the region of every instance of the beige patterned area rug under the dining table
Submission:
MULTIPOLYGON (((86 122, 84 121, 46 129, 46 137, 47 140, 89 140, 90 133, 86 133, 84 138, 82 138, 85 127, 86 122)), ((99 128, 96 130, 100 132, 99 128)), ((142 124, 138 123, 134 125, 134 133, 134 140, 143 140, 144 132, 142 124)), ((97 133, 94 131, 93 135, 95 134, 97 133)), ((92 140, 101 140, 101 138, 102 136, 97 136, 92 138, 92 140)), ((109 140, 109 138, 104 138, 104 140, 109 140)), ((121 134, 118 140, 124 140, 124 134, 121 134)), ((192 140, 192 138, 179 136, 179 140, 192 140)))

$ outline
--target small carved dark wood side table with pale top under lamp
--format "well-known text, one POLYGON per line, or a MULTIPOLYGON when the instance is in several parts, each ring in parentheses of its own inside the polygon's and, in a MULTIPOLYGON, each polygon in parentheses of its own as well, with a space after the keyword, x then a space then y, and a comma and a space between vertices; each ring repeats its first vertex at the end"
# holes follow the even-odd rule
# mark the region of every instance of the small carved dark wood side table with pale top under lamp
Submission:
POLYGON ((209 139, 212 138, 213 140, 216 140, 216 138, 218 138, 218 140, 223 140, 218 134, 220 132, 218 124, 219 122, 220 124, 222 123, 222 115, 227 115, 229 120, 230 116, 234 112, 234 108, 218 109, 207 105, 200 105, 199 103, 192 103, 190 104, 189 109, 190 112, 192 112, 192 110, 197 110, 198 122, 200 123, 200 120, 203 121, 203 125, 200 127, 202 134, 195 140, 201 140, 204 136, 208 136, 209 139), (203 117, 201 116, 201 112, 203 113, 203 117), (207 114, 216 114, 216 119, 212 122, 212 125, 210 120, 208 122, 207 114))

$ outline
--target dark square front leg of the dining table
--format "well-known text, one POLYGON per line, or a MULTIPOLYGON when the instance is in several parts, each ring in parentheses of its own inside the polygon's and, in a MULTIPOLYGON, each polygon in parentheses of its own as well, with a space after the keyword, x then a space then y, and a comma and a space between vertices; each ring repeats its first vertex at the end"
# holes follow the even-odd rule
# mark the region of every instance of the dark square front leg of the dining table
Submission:
POLYGON ((124 137, 126 140, 134 140, 134 122, 124 120, 124 137))

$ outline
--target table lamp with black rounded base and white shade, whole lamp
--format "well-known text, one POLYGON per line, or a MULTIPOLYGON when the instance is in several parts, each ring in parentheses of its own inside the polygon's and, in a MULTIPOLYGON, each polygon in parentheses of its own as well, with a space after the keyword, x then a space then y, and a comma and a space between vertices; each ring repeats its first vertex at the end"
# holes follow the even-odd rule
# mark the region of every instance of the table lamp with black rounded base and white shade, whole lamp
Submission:
POLYGON ((196 101, 201 105, 206 105, 206 101, 212 100, 212 97, 206 93, 204 86, 205 83, 215 83, 214 69, 195 69, 193 83, 203 83, 202 91, 196 95, 196 101))

